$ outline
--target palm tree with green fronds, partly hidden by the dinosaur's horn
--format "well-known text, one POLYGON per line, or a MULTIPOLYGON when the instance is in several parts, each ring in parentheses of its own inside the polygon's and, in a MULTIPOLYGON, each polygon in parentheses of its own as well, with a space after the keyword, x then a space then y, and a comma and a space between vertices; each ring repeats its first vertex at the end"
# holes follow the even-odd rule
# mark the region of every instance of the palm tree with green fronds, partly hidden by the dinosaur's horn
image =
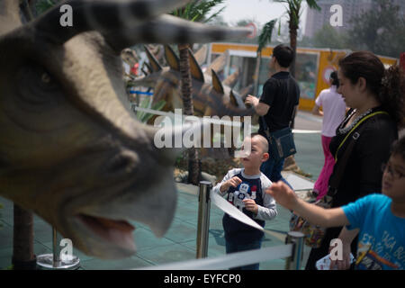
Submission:
MULTIPOLYGON (((177 9, 171 14, 192 21, 207 23, 212 18, 216 17, 222 12, 225 7, 222 7, 217 13, 207 16, 211 9, 218 4, 222 4, 224 0, 194 0, 186 4, 183 8, 177 9)), ((182 77, 181 91, 183 95, 183 106, 185 115, 193 115, 193 96, 192 96, 192 77, 190 73, 190 62, 188 58, 189 49, 192 44, 179 44, 180 56, 180 74, 182 77)), ((198 159, 198 151, 196 148, 188 150, 188 182, 198 184, 200 180, 200 162, 198 159)))

